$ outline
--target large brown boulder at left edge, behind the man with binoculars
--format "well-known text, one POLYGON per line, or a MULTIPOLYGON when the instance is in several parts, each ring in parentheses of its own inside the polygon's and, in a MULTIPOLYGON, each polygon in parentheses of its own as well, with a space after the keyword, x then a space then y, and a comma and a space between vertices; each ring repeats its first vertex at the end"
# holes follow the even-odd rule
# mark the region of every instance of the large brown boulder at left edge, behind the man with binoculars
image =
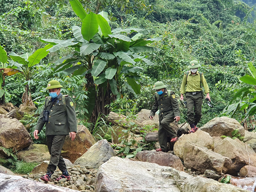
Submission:
POLYGON ((22 123, 0 114, 0 146, 20 150, 31 143, 32 138, 22 123))

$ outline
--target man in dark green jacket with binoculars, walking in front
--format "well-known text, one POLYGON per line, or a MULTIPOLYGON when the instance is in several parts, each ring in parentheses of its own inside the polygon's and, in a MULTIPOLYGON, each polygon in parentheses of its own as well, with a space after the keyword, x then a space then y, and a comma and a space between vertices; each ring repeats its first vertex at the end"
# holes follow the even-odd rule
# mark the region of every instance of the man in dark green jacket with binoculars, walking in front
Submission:
POLYGON ((44 101, 44 110, 39 116, 34 131, 34 138, 38 139, 37 134, 42 130, 46 123, 45 135, 47 137, 46 144, 51 155, 50 163, 47 167, 47 173, 41 180, 49 181, 52 173, 57 166, 62 171, 62 175, 56 180, 67 178, 70 180, 66 164, 60 155, 66 135, 69 134, 73 141, 76 137, 76 112, 74 103, 68 95, 60 93, 62 86, 58 81, 52 80, 47 85, 50 97, 46 97, 44 101))

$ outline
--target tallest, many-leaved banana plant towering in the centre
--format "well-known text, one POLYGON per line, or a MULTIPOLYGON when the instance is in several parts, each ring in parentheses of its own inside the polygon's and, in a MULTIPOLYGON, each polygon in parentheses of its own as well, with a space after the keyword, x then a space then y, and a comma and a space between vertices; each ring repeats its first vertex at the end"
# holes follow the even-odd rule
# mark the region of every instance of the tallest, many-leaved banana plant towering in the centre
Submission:
POLYGON ((55 52, 62 47, 73 47, 75 53, 55 62, 55 72, 65 71, 75 75, 84 75, 87 79, 87 90, 90 92, 88 117, 97 118, 99 113, 108 114, 105 108, 111 100, 120 97, 122 88, 127 86, 134 94, 140 93, 140 72, 142 68, 136 63, 143 61, 154 65, 142 52, 160 51, 149 43, 162 38, 140 38, 149 33, 140 28, 116 28, 111 30, 108 13, 87 14, 78 0, 70 1, 76 15, 82 21, 82 27, 74 26, 74 38, 69 40, 42 39, 52 44, 48 49, 55 52), (133 36, 131 36, 131 34, 133 36), (129 35, 129 36, 127 36, 129 35))

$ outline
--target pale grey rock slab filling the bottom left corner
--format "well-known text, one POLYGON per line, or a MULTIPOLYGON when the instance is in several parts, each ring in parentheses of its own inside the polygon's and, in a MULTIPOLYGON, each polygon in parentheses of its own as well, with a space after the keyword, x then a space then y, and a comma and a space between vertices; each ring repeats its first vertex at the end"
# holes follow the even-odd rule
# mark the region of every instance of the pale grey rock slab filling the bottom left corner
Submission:
POLYGON ((0 189, 1 192, 77 192, 69 188, 59 187, 56 185, 48 185, 45 183, 24 179, 16 175, 5 175, 0 173, 0 189))

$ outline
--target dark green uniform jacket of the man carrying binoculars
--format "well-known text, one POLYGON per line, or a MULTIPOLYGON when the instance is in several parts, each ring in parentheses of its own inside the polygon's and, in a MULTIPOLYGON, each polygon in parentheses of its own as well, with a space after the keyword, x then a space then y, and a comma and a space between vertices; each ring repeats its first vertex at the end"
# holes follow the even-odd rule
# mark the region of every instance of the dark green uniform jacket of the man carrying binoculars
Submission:
MULTIPOLYGON (((60 96, 60 95, 59 95, 60 96)), ((69 132, 76 132, 76 112, 71 100, 71 97, 66 96, 66 110, 64 108, 63 101, 61 97, 56 101, 54 105, 51 107, 51 103, 48 103, 46 106, 46 101, 44 101, 44 108, 50 111, 48 122, 43 122, 43 111, 39 116, 38 122, 36 124, 36 130, 40 132, 46 123, 45 135, 68 135, 69 132)))

